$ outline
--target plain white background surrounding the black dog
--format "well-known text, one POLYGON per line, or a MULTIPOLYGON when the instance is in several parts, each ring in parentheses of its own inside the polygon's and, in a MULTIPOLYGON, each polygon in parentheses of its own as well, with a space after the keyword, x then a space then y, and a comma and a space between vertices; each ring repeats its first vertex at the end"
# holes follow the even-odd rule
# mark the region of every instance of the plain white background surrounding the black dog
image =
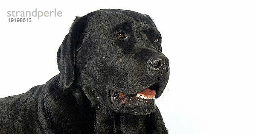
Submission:
POLYGON ((170 134, 256 134, 255 0, 0 2, 0 98, 58 74, 56 53, 75 16, 101 8, 148 14, 163 35, 170 78, 157 99, 170 134), (7 11, 62 11, 8 22, 7 11))

